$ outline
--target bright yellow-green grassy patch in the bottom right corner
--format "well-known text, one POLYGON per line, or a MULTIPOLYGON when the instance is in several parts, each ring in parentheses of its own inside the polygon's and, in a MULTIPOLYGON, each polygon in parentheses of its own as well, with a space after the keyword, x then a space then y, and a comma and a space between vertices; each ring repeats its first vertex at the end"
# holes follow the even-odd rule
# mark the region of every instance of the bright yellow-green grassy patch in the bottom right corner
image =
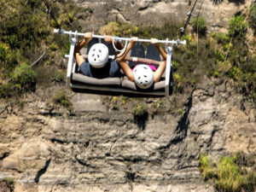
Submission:
MULTIPOLYGON (((253 157, 255 158, 255 155, 253 157)), ((233 157, 224 156, 217 164, 212 163, 207 155, 201 154, 199 158, 199 170, 203 179, 212 179, 215 188, 224 192, 253 192, 256 189, 254 165, 255 159, 248 159, 242 152, 233 157)))

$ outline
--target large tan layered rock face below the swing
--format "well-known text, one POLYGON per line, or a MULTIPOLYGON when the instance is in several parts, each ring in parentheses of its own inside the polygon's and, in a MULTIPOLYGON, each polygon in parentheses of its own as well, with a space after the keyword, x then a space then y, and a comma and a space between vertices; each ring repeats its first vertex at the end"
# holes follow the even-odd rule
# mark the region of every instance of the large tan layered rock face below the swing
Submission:
POLYGON ((229 88, 198 87, 183 115, 148 117, 144 129, 131 110, 98 110, 102 96, 74 94, 73 113, 2 105, 0 177, 14 178, 15 191, 213 191, 199 154, 256 148, 255 108, 229 88))

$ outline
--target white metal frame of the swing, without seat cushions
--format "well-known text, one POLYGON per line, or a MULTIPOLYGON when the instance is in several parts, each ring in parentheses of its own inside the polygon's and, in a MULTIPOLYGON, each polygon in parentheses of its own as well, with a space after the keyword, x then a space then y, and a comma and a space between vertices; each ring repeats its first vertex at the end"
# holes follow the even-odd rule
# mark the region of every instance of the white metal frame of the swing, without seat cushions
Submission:
MULTIPOLYGON (((64 30, 58 30, 55 29, 54 32, 60 33, 60 34, 68 34, 69 35, 69 41, 70 41, 70 49, 69 54, 65 55, 65 57, 68 58, 67 62, 67 84, 70 85, 72 89, 79 89, 79 90, 97 90, 97 91, 108 91, 108 92, 115 92, 115 93, 125 93, 125 94, 137 94, 137 95, 147 95, 147 96, 166 96, 167 99, 169 99, 169 93, 170 93, 170 81, 171 81, 171 72, 172 72, 172 46, 168 46, 168 44, 186 44, 186 41, 180 41, 179 39, 169 41, 168 38, 166 40, 159 40, 159 43, 166 44, 166 51, 167 51, 167 60, 166 60, 166 84, 165 84, 165 91, 150 91, 150 92, 140 92, 136 90, 128 90, 125 88, 113 88, 113 87, 99 87, 99 86, 93 86, 93 85, 87 85, 87 84, 73 84, 70 79, 72 73, 75 73, 75 67, 76 67, 76 61, 74 59, 73 53, 74 53, 74 46, 77 42, 78 36, 84 36, 84 33, 80 32, 65 32, 64 30), (73 36, 73 37, 72 37, 73 36)), ((93 38, 104 38, 104 36, 99 35, 93 35, 93 38)), ((130 40, 130 38, 117 38, 114 37, 114 39, 118 40, 125 40, 126 44, 127 41, 130 40)), ((150 42, 150 39, 138 39, 139 42, 150 42)))

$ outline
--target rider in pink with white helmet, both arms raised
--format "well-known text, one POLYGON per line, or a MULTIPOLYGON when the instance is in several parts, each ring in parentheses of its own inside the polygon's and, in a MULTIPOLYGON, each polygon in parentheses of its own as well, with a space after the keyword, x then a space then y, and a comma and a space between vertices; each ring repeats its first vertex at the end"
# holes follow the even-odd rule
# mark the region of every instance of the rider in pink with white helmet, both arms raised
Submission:
POLYGON ((160 47, 158 44, 158 39, 151 38, 151 44, 148 45, 147 55, 143 46, 137 43, 137 38, 131 38, 127 49, 124 52, 121 52, 117 61, 124 71, 127 78, 137 85, 139 89, 146 90, 150 89, 152 85, 160 81, 161 75, 166 70, 166 51, 160 47), (137 43, 137 44, 136 44, 137 43), (142 64, 138 62, 130 61, 129 65, 124 61, 125 55, 131 50, 131 56, 135 57, 146 57, 151 60, 160 61, 160 55, 162 56, 162 61, 159 66, 154 66, 152 64, 142 64))

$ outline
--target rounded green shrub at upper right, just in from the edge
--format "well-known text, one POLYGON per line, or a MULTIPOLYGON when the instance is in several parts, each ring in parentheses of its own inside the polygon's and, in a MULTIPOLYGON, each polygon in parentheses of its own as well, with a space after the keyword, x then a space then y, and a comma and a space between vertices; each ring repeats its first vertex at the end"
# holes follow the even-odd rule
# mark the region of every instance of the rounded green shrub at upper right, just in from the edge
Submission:
POLYGON ((244 17, 237 15, 229 21, 229 35, 234 38, 245 38, 247 33, 247 22, 244 17))

